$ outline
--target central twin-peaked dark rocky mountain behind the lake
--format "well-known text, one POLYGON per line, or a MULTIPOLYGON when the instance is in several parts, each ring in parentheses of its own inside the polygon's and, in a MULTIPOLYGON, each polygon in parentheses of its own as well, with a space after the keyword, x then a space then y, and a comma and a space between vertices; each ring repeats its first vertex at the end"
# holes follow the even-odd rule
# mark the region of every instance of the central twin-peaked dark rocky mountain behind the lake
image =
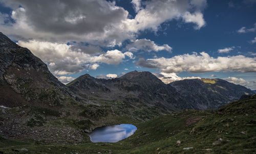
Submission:
POLYGON ((109 80, 85 74, 67 86, 88 102, 95 100, 94 104, 99 104, 100 100, 105 100, 117 111, 125 110, 131 116, 139 114, 142 119, 180 110, 181 97, 176 90, 150 72, 132 71, 109 80), (115 104, 111 104, 113 101, 115 104))

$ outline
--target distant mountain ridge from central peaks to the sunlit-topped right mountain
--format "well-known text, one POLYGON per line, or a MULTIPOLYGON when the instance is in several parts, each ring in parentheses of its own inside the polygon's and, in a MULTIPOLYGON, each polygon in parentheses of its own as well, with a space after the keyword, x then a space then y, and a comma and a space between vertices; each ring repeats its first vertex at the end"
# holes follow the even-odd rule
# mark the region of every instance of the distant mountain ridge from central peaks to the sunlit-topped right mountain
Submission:
POLYGON ((117 96, 130 93, 136 98, 136 101, 141 102, 141 104, 147 104, 151 101, 157 102, 156 98, 158 97, 158 102, 161 102, 159 105, 163 105, 162 108, 172 105, 169 108, 170 111, 182 109, 218 109, 229 101, 238 100, 244 94, 253 93, 243 86, 235 85, 222 79, 191 79, 164 84, 154 74, 148 71, 139 72, 135 70, 111 80, 96 79, 89 75, 90 78, 82 81, 83 78, 81 76, 70 84, 67 84, 78 95, 79 93, 90 95, 90 91, 88 91, 89 93, 83 93, 85 90, 82 88, 76 89, 77 86, 73 84, 79 81, 79 83, 84 82, 84 85, 79 85, 80 87, 87 87, 88 90, 91 89, 94 94, 97 93, 102 98, 109 96, 109 99, 111 97, 118 99, 117 96), (90 88, 90 85, 93 86, 90 88), (95 85, 98 88, 95 89, 95 85), (232 88, 229 88, 229 86, 232 88), (116 92, 117 90, 120 93, 116 92), (144 91, 146 93, 143 93, 144 91), (142 100, 143 98, 145 98, 145 101, 142 100))

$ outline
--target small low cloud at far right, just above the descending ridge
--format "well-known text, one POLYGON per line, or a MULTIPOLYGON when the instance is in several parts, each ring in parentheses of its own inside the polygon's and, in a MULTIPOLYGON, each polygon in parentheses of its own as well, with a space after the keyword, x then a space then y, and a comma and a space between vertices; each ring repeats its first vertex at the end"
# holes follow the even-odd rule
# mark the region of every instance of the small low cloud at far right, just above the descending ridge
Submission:
POLYGON ((250 88, 250 89, 256 89, 256 81, 246 81, 242 78, 235 78, 235 77, 228 77, 228 78, 224 78, 223 80, 226 80, 230 83, 233 83, 233 84, 237 84, 237 85, 241 85, 241 86, 245 86, 247 88, 250 88))

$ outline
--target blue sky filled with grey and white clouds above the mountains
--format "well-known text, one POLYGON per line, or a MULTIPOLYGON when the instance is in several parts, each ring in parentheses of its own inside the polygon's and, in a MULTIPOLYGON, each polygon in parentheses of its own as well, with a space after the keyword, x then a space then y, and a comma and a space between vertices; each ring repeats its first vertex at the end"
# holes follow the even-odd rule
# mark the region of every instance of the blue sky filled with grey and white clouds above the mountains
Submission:
POLYGON ((0 0, 0 31, 65 84, 138 70, 256 89, 255 0, 0 0))

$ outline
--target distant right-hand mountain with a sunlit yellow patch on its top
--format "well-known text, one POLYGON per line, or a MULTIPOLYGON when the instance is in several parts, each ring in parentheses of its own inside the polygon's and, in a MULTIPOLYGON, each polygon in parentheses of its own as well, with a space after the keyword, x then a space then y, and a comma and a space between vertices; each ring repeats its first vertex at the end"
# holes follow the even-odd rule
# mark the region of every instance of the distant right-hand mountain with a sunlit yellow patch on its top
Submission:
POLYGON ((201 110, 218 109, 244 94, 253 94, 250 89, 221 79, 182 80, 169 85, 182 95, 185 102, 201 110))

